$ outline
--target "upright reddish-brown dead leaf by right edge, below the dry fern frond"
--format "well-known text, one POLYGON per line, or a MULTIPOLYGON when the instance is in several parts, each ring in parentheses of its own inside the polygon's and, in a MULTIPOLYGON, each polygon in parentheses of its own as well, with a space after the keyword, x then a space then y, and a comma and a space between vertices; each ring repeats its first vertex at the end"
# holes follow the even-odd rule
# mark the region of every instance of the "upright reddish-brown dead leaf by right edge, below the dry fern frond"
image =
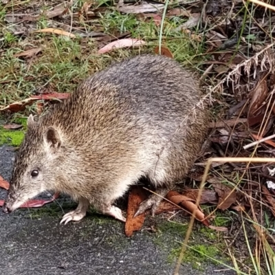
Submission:
POLYGON ((256 87, 252 90, 250 107, 248 111, 248 116, 254 116, 254 113, 261 107, 261 104, 265 101, 268 95, 267 79, 265 76, 261 78, 256 87))

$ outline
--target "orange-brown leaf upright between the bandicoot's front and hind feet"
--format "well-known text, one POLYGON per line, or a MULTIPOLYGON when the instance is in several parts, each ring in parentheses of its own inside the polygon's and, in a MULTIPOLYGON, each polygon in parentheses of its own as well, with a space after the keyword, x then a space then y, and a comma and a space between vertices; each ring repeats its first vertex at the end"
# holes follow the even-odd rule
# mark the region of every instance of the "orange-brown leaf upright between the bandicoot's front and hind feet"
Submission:
POLYGON ((140 230, 144 223, 145 213, 133 217, 140 203, 146 199, 146 191, 141 186, 134 186, 129 194, 127 218, 125 223, 126 236, 132 236, 134 231, 140 230))

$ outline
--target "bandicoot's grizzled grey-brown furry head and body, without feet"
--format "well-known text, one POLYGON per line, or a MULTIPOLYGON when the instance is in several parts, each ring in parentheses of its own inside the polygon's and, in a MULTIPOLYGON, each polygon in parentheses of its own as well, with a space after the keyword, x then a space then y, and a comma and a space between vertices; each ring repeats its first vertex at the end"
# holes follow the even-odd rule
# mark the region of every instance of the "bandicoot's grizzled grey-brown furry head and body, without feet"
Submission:
POLYGON ((100 206, 142 176, 172 186, 188 173, 206 136, 200 100, 197 77, 164 56, 137 56, 94 74, 29 123, 10 197, 25 201, 56 190, 100 206), (52 146, 56 136, 59 145, 52 146))

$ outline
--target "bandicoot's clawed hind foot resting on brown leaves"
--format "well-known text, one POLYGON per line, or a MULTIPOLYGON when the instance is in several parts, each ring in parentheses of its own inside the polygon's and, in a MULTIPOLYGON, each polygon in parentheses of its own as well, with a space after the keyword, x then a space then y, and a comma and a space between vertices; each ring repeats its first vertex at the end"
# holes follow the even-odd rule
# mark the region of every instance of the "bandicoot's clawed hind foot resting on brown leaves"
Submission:
POLYGON ((155 194, 152 194, 146 199, 145 201, 142 201, 140 203, 140 206, 135 213, 134 217, 137 217, 139 214, 144 213, 146 210, 151 209, 152 216, 155 216, 155 212, 157 211, 157 208, 159 207, 159 203, 162 201, 162 199, 166 196, 169 189, 165 187, 159 187, 155 190, 155 194))

